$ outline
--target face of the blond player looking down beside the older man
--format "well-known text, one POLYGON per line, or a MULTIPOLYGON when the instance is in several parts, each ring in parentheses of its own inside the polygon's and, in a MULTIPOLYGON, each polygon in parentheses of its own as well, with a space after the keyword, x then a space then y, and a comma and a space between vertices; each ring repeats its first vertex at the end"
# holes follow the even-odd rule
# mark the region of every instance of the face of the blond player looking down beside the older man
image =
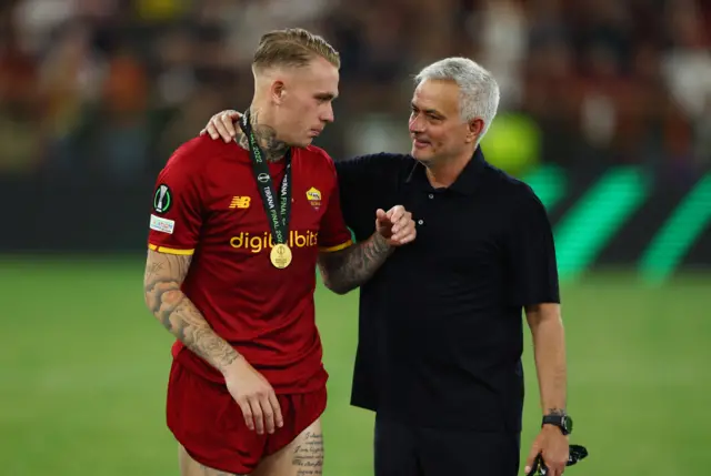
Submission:
POLYGON ((283 80, 278 105, 280 139, 304 148, 333 122, 332 101, 338 97, 338 69, 319 57, 307 68, 293 69, 283 80))

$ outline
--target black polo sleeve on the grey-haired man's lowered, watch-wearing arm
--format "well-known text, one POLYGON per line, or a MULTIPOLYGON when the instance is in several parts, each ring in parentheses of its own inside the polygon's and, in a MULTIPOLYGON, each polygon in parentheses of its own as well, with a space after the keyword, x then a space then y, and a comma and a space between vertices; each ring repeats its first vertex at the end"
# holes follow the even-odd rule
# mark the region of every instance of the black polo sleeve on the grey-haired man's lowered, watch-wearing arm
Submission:
POLYGON ((560 303, 555 245, 545 207, 530 189, 519 202, 507 239, 511 304, 560 303))

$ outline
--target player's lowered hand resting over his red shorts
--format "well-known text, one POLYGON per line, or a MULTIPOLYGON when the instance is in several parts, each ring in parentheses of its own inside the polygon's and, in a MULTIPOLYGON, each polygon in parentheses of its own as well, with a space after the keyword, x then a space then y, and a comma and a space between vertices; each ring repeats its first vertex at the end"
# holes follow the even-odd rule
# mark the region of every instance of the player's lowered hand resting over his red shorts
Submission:
POLYGON ((243 356, 239 356, 224 371, 227 388, 234 402, 242 408, 244 423, 249 429, 257 428, 257 433, 274 433, 274 425, 284 424, 281 407, 267 378, 252 367, 243 356))

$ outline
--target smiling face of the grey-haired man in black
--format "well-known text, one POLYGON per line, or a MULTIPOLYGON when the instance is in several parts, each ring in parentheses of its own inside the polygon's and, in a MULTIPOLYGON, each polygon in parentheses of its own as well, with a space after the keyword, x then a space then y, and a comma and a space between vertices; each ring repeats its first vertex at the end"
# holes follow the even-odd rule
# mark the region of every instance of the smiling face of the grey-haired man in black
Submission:
POLYGON ((454 81, 422 81, 414 90, 411 110, 411 153, 418 161, 458 156, 471 143, 469 124, 462 121, 459 111, 459 85, 454 81))

